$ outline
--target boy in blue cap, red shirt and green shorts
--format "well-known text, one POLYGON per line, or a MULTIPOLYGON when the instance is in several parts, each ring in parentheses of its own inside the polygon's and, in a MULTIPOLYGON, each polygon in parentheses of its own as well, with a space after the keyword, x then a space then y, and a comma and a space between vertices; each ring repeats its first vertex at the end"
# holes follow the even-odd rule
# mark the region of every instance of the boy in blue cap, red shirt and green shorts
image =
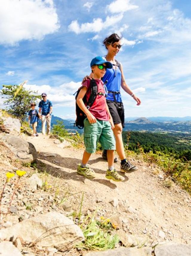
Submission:
POLYGON ((106 93, 104 83, 101 78, 104 76, 107 68, 112 68, 112 64, 106 61, 104 57, 97 56, 90 63, 93 76, 98 86, 96 100, 90 108, 84 104, 83 98, 86 97, 88 102, 91 94, 90 80, 87 79, 82 84, 82 88, 77 97, 77 104, 85 113, 87 118, 84 120, 84 144, 85 150, 81 164, 78 165, 78 174, 87 178, 95 178, 95 172, 89 168, 88 161, 92 153, 96 152, 97 142, 100 141, 101 146, 107 149, 108 169, 106 178, 114 181, 123 181, 124 177, 118 174, 114 169, 114 151, 115 138, 112 129, 114 128, 113 119, 106 103, 106 93))

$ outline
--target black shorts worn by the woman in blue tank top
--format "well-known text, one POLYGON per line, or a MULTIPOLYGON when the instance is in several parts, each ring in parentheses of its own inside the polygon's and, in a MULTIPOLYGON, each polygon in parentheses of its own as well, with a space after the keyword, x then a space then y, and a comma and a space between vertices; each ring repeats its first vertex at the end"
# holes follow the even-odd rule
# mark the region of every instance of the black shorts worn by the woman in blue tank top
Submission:
POLYGON ((125 116, 124 116, 124 107, 122 102, 115 102, 111 100, 106 100, 107 106, 109 107, 111 116, 113 118, 114 124, 122 124, 122 127, 125 127, 125 116))

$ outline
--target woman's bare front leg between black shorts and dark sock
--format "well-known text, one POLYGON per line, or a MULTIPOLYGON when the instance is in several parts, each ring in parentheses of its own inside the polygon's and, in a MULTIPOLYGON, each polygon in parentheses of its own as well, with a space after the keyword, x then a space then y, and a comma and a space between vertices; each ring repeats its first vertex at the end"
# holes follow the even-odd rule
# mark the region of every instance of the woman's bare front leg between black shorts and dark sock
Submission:
POLYGON ((122 130, 123 130, 123 127, 122 127, 121 123, 115 124, 113 133, 115 135, 116 151, 121 160, 126 158, 124 145, 123 145, 123 139, 122 139, 122 130))

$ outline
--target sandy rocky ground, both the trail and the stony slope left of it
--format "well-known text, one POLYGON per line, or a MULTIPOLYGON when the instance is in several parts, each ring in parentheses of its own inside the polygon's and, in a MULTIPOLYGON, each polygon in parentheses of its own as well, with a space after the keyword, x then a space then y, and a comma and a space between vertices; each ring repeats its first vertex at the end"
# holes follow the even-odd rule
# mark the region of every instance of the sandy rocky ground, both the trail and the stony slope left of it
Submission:
MULTIPOLYGON (((65 215, 79 212, 84 192, 82 218, 87 214, 96 213, 96 217, 104 216, 115 222, 121 236, 124 233, 136 235, 153 244, 167 241, 191 244, 191 198, 177 185, 171 186, 170 189, 166 188, 165 176, 156 166, 149 165, 141 159, 130 159, 139 167, 138 171, 125 174, 125 181, 117 183, 105 178, 107 162, 101 158, 101 154, 93 154, 90 167, 95 170, 96 178, 88 180, 76 173, 83 149, 62 148, 57 140, 41 134, 39 137, 23 137, 38 151, 37 166, 34 165, 34 169, 15 162, 13 153, 2 142, 0 143, 1 188, 7 171, 27 171, 19 182, 11 213, 4 217, 1 228, 48 212, 65 215), (35 170, 36 167, 38 171, 35 170), (30 181, 30 177, 34 177, 33 174, 38 174, 42 189, 33 186, 33 181, 30 181), (61 201, 64 201, 62 206, 61 201)), ((119 163, 115 167, 119 170, 119 163)), ((8 183, 3 195, 3 213, 7 211, 7 203, 13 189, 13 183, 8 183)), ((30 248, 30 253, 84 254, 76 249, 63 254, 57 249, 47 251, 43 247, 38 247, 37 251, 30 248)))

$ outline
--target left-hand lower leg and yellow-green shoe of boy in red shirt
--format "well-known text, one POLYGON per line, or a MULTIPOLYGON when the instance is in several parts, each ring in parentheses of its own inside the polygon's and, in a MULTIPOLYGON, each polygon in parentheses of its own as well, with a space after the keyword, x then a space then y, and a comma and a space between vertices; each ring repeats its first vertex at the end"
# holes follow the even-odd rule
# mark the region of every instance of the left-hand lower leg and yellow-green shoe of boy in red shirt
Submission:
POLYGON ((95 172, 87 165, 90 159, 91 153, 84 151, 81 164, 78 165, 77 173, 83 175, 89 179, 96 177, 95 172))

